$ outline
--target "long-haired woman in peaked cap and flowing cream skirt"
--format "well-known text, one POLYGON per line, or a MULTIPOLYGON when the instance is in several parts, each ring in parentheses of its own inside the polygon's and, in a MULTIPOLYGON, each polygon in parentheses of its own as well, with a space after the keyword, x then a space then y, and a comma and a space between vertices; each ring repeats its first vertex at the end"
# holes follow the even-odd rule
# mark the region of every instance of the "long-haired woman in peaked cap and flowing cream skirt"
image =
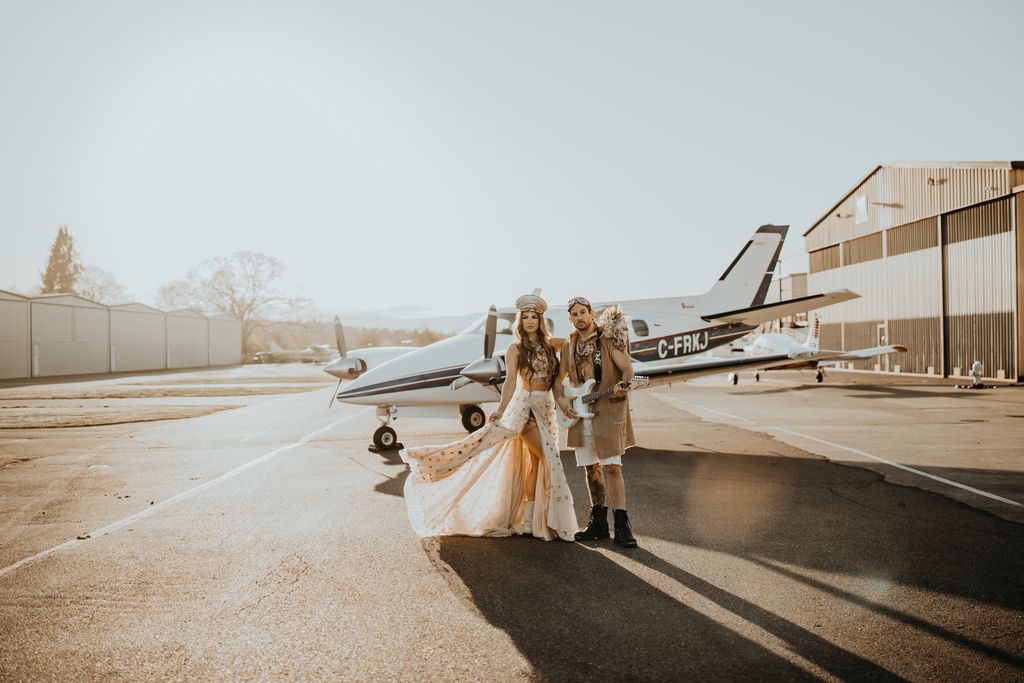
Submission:
POLYGON ((461 441, 400 452, 410 467, 409 519, 420 536, 574 540, 579 526, 551 394, 558 357, 544 323, 548 304, 527 294, 515 306, 515 343, 505 354, 508 374, 488 424, 461 441))

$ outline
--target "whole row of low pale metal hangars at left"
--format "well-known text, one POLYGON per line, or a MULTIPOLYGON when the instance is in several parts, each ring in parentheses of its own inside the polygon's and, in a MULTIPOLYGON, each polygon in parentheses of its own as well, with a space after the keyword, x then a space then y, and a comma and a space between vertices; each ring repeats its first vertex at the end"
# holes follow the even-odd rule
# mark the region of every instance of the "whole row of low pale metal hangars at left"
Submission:
POLYGON ((72 294, 0 290, 0 380, 231 366, 242 324, 140 303, 104 306, 72 294))

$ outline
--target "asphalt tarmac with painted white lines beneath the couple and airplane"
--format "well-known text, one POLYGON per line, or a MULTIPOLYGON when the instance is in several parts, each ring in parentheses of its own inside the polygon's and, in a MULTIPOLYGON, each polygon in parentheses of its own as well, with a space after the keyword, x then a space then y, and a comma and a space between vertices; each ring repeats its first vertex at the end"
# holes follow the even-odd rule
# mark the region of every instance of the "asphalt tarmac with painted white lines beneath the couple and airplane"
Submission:
POLYGON ((636 550, 416 537, 332 389, 0 430, 0 680, 1024 679, 1018 387, 638 392, 636 550))

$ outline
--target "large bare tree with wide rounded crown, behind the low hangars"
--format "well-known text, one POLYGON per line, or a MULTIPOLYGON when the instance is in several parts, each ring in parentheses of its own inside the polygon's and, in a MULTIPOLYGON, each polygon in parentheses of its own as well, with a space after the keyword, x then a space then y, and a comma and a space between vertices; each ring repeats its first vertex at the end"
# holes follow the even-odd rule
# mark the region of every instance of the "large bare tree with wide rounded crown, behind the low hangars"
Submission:
POLYGON ((242 351, 253 350, 253 333, 264 325, 266 312, 275 307, 297 307, 303 297, 289 296, 280 289, 285 274, 280 259, 258 252, 240 251, 230 256, 203 261, 188 270, 184 281, 160 289, 159 302, 166 308, 198 308, 224 312, 242 322, 242 351))

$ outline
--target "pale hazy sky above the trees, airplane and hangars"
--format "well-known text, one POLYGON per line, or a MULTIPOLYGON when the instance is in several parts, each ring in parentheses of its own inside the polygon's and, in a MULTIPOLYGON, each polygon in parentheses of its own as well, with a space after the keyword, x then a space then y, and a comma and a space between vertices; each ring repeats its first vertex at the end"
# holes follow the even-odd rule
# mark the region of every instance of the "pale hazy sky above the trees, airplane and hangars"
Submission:
POLYGON ((1024 2, 0 0, 0 288, 57 226, 150 303, 699 294, 877 164, 1024 159, 1024 2))

